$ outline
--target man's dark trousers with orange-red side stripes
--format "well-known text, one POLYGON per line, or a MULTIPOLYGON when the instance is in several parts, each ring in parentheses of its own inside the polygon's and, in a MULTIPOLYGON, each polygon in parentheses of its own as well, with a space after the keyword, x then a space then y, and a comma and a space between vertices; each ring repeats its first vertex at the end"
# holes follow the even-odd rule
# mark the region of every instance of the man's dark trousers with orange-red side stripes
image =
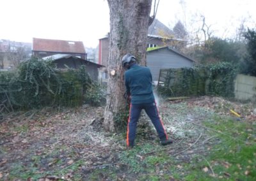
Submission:
POLYGON ((127 146, 133 146, 134 140, 136 136, 136 127, 137 122, 140 117, 141 110, 145 110, 148 117, 154 124, 154 127, 156 128, 156 131, 158 133, 160 140, 167 140, 167 134, 164 130, 163 122, 159 117, 159 113, 157 110, 156 103, 143 103, 143 104, 136 104, 136 105, 130 105, 130 112, 129 112, 129 120, 127 125, 127 146))

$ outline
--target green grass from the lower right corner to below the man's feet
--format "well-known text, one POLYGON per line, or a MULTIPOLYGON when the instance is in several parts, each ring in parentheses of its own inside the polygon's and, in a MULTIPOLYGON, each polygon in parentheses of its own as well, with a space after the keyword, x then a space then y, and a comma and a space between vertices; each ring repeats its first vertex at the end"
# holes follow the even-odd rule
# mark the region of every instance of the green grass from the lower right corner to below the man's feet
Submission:
POLYGON ((212 151, 205 157, 198 154, 191 162, 183 163, 164 151, 147 155, 145 153, 162 147, 145 143, 122 152, 120 161, 128 166, 129 173, 136 173, 139 180, 255 180, 255 124, 214 113, 201 124, 209 128, 205 129, 209 136, 217 135, 216 144, 211 145, 212 151))

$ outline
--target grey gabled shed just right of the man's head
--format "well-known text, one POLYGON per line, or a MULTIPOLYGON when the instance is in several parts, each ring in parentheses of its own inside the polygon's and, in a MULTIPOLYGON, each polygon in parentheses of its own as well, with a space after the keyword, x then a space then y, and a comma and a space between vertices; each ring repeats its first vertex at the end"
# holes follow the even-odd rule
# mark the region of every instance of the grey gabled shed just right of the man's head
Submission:
POLYGON ((158 81, 160 69, 192 67, 195 61, 171 47, 152 48, 147 51, 147 66, 153 81, 158 81))

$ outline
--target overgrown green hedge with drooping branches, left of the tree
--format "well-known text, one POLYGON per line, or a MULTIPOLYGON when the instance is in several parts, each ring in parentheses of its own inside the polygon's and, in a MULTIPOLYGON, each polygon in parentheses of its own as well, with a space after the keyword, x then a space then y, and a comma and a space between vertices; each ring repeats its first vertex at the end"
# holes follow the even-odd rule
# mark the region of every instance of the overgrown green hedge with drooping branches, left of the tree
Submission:
MULTIPOLYGON (((0 109, 4 107, 2 110, 10 112, 43 106, 79 106, 94 85, 85 66, 63 71, 56 69, 51 59, 31 57, 16 71, 0 72, 0 109)), ((90 101, 95 99, 99 101, 90 101)))

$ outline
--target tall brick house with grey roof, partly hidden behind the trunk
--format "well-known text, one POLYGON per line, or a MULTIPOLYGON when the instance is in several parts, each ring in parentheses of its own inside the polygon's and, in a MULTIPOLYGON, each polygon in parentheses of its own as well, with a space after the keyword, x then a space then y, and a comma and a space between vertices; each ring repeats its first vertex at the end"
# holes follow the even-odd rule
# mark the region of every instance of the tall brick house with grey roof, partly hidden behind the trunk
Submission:
MULTIPOLYGON (((174 38, 173 31, 155 18, 152 24, 148 27, 147 47, 163 47, 170 44, 171 41, 177 41, 174 38)), ((108 52, 109 38, 107 35, 99 40, 99 64, 107 66, 108 52)))

